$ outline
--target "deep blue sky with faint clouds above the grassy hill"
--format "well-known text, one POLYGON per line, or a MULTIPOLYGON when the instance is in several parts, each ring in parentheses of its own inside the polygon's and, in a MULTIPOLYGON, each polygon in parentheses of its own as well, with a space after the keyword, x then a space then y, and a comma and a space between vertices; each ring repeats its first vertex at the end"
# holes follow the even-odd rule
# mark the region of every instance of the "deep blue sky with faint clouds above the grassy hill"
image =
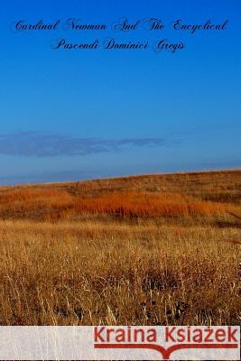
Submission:
POLYGON ((0 184, 237 168, 240 0, 1 1, 0 184), (130 23, 144 32, 14 32, 13 23, 130 23), (174 31, 172 23, 225 31, 174 31), (51 42, 183 42, 170 51, 53 50, 51 42))

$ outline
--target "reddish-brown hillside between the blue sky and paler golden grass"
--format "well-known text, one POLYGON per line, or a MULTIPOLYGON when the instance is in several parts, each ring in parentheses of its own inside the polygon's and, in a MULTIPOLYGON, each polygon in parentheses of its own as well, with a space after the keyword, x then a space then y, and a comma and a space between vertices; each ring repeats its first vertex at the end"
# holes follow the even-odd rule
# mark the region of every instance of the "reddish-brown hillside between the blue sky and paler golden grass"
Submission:
POLYGON ((144 175, 0 189, 0 218, 209 218, 238 227, 241 171, 144 175))

